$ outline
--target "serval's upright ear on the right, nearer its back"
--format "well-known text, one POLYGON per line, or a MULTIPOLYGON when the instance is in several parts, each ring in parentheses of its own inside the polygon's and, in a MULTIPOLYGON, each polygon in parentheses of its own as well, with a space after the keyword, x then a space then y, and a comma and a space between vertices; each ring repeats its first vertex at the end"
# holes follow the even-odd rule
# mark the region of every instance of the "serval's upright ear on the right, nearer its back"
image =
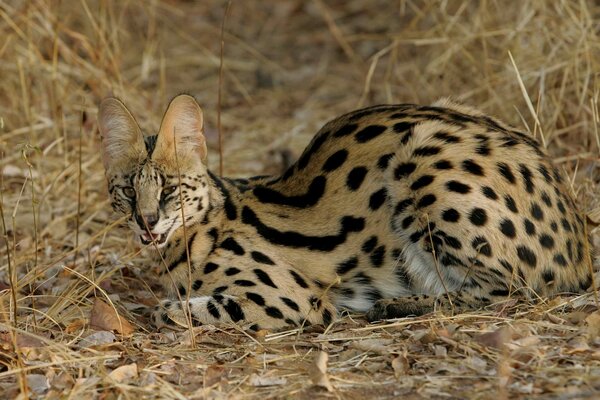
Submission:
POLYGON ((206 139, 203 130, 202 109, 196 100, 186 94, 175 97, 160 124, 152 158, 170 163, 174 161, 177 150, 178 157, 191 154, 205 161, 206 139))

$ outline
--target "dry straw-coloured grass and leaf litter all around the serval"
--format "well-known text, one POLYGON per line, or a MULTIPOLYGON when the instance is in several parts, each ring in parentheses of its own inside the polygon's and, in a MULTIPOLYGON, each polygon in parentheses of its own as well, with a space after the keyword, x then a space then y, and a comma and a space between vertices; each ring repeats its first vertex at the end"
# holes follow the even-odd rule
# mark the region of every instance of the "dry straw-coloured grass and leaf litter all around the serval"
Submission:
POLYGON ((0 0, 0 398, 597 398, 592 294, 255 336, 149 327, 159 267, 111 214, 98 154, 109 94, 148 131, 196 96, 218 171, 221 87, 236 176, 280 171, 342 112, 458 97, 543 138, 600 247, 598 2, 234 1, 219 85, 226 5, 0 0))

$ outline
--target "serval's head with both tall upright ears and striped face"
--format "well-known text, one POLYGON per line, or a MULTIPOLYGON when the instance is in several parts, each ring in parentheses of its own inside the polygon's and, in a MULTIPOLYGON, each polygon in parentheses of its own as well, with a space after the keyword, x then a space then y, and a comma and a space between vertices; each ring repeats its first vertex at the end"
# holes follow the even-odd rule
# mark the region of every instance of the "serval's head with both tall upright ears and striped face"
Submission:
POLYGON ((188 95, 175 97, 158 135, 144 137, 123 103, 107 98, 98 125, 113 209, 129 216, 142 244, 166 244, 183 225, 204 218, 210 187, 202 110, 188 95))

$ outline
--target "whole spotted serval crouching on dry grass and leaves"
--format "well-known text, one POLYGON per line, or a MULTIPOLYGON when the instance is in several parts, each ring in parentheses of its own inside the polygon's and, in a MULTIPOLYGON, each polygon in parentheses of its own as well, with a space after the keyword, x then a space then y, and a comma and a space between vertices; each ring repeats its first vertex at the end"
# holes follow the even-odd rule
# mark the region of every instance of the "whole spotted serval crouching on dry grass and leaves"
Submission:
POLYGON ((157 326, 326 325, 344 308, 376 320, 591 282, 560 170, 530 136, 462 105, 354 111, 281 176, 249 179, 206 168, 190 96, 146 140, 116 99, 99 123, 112 206, 163 267, 157 326))

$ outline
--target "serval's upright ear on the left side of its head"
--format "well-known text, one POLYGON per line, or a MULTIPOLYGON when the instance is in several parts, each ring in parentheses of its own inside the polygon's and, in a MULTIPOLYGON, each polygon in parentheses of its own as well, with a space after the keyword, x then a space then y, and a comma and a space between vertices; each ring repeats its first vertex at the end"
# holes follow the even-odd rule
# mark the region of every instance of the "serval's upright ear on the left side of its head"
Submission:
POLYGON ((144 137, 125 105, 114 97, 102 101, 98 110, 104 168, 124 168, 147 157, 144 137))

